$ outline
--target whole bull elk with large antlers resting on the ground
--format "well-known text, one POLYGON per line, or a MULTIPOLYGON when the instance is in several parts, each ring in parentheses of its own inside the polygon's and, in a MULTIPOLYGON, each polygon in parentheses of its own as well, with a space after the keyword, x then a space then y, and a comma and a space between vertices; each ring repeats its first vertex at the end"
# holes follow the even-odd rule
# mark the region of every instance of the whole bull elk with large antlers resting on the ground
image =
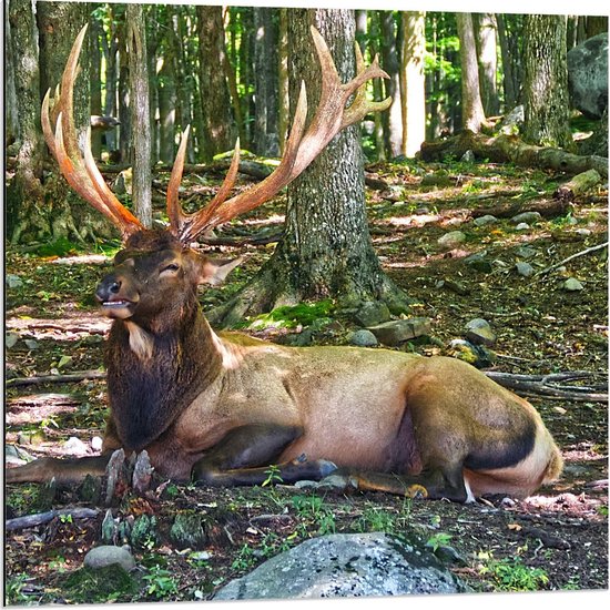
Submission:
POLYGON ((110 417, 102 455, 42 458, 11 468, 8 482, 77 481, 103 475, 111 454, 146 450, 162 477, 202 485, 257 485, 276 465, 285 482, 319 479, 335 468, 360 489, 471 500, 523 497, 553 480, 561 455, 536 409, 472 366, 389 349, 284 347, 238 333, 216 334, 201 312, 197 286, 216 284, 238 264, 213 261, 193 241, 270 200, 299 175, 347 125, 384 102, 365 83, 387 77, 375 59, 342 84, 322 35, 312 28, 322 96, 305 130, 302 87, 276 170, 227 199, 238 144, 216 196, 185 214, 179 203, 187 130, 167 186, 166 230, 146 230, 104 183, 90 148, 77 145, 72 89, 85 30, 79 34, 53 109, 42 125, 61 172, 121 231, 124 248, 96 288, 113 319, 106 345, 110 417), (348 108, 348 98, 354 101, 348 108))

